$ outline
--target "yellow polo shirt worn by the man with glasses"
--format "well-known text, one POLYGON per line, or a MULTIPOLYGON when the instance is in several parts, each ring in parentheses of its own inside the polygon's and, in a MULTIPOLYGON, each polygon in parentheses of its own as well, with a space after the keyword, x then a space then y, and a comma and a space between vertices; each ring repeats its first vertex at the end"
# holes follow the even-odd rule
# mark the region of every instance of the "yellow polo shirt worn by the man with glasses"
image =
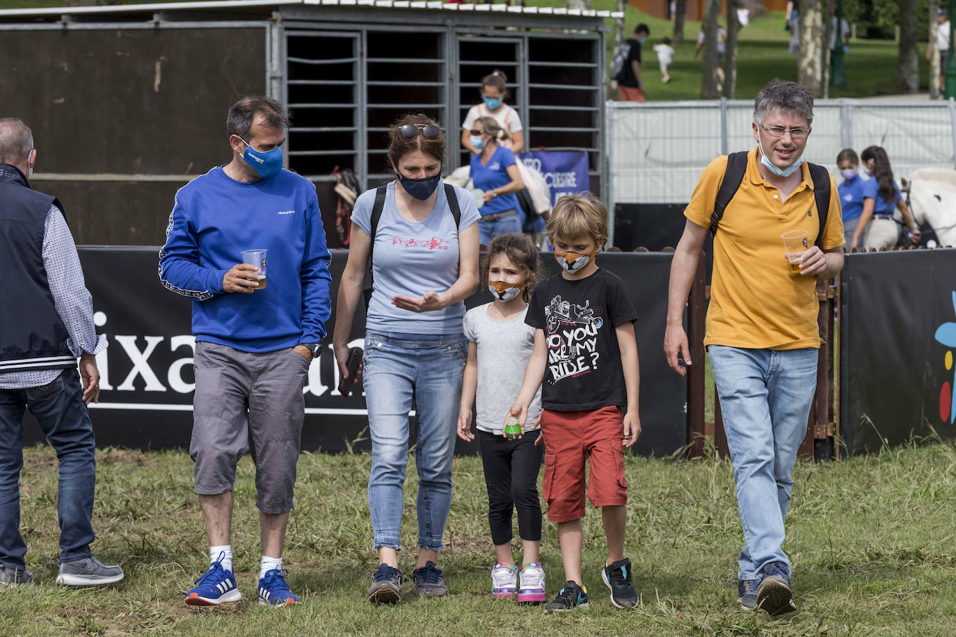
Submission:
MULTIPOLYGON (((717 225, 704 344, 761 350, 819 348, 823 341, 816 324, 816 277, 791 273, 780 239, 789 230, 806 230, 807 244, 816 242, 820 224, 810 168, 803 163, 803 180, 781 201, 780 192, 757 166, 754 148, 740 188, 717 225)), ((704 170, 684 210, 691 222, 710 227, 726 169, 724 155, 704 170)), ((841 216, 831 176, 824 250, 844 243, 841 216)))

